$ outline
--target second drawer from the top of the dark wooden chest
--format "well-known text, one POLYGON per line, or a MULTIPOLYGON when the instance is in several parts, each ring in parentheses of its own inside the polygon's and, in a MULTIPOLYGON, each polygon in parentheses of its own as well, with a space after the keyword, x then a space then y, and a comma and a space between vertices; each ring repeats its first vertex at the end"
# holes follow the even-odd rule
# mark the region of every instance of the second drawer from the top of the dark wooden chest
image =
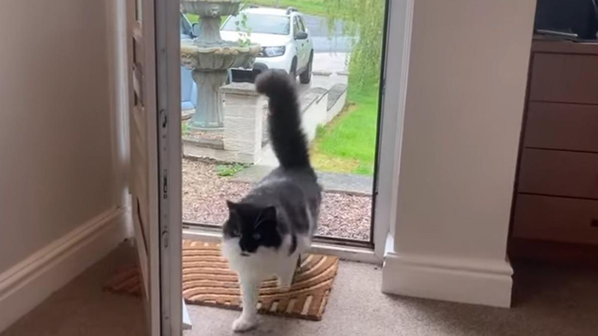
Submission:
POLYGON ((598 105, 530 102, 523 145, 598 152, 598 105))

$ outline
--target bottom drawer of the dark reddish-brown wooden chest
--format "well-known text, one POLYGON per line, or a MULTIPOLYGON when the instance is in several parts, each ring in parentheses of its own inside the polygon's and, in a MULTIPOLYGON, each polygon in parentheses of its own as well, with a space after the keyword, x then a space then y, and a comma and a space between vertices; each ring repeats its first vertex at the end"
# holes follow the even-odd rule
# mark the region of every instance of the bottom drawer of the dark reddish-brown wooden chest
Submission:
POLYGON ((518 194, 513 237, 598 244, 598 201, 518 194))

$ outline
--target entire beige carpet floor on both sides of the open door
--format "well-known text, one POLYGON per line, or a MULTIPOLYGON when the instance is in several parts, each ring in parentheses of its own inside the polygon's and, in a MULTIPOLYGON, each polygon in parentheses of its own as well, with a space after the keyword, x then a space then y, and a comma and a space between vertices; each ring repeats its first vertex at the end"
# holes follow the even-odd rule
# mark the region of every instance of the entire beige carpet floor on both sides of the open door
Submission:
MULTIPOLYGON (((120 248, 51 295, 1 336, 145 335, 138 298, 102 291, 135 249, 120 248)), ((130 258, 128 258, 130 257, 130 258)), ((382 271, 341 261, 321 322, 262 316, 247 336, 591 336, 598 330, 598 270, 515 264, 511 309, 396 297, 380 292, 382 271)), ((7 307, 1 307, 7 308, 7 307)), ((185 336, 231 336, 237 311, 188 306, 185 336)))

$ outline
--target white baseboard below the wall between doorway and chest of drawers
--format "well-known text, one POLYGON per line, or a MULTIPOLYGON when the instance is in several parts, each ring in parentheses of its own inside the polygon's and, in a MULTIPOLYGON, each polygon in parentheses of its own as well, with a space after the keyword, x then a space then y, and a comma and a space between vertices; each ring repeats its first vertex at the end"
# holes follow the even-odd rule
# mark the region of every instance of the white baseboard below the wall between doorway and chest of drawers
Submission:
POLYGON ((404 255, 387 252, 382 291, 387 294, 494 307, 511 306, 508 261, 404 255))

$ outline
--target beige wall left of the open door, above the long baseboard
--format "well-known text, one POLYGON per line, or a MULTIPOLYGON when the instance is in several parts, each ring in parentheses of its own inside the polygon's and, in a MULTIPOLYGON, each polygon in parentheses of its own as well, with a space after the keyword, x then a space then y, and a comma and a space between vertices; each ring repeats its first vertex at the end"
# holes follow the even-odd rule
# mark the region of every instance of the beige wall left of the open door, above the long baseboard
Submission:
POLYGON ((114 204, 104 6, 2 2, 0 273, 114 204))

